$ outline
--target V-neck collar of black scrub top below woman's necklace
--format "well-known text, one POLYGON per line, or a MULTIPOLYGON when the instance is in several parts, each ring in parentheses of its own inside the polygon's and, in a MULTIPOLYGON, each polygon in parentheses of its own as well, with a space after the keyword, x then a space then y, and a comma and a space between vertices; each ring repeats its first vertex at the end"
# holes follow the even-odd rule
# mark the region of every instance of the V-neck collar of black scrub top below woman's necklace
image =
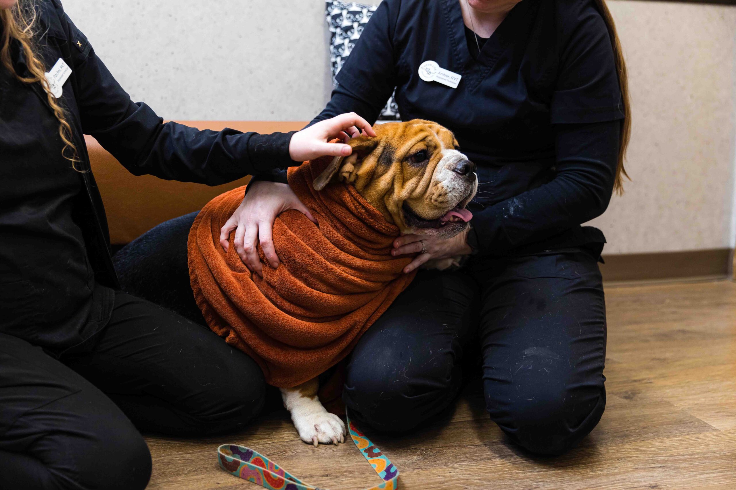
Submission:
POLYGON ((522 0, 506 15, 486 44, 481 48, 478 59, 470 55, 465 40, 465 23, 459 0, 442 0, 442 11, 447 24, 452 29, 450 44, 453 48, 453 66, 442 67, 456 71, 464 76, 471 91, 475 90, 488 73, 493 69, 501 55, 514 44, 514 40, 526 40, 534 24, 539 0, 522 0))

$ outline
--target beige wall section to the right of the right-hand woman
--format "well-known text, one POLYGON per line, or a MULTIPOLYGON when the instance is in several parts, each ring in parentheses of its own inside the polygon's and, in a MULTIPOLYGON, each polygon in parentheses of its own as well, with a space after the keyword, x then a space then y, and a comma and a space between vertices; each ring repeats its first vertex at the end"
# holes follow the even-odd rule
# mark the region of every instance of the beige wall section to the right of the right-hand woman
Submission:
POLYGON ((592 224, 607 253, 732 246, 736 7, 609 1, 633 110, 622 197, 592 224))

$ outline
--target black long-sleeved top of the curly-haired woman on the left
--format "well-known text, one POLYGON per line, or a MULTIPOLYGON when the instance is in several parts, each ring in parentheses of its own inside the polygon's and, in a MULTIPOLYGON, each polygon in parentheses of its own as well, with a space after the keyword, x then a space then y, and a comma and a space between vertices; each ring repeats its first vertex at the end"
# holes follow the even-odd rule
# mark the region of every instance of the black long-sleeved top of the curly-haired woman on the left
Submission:
MULTIPOLYGON (((130 172, 162 179, 216 185, 297 162, 289 157, 291 133, 163 123, 130 100, 59 1, 35 5, 44 65, 64 60, 71 68, 57 102, 82 171, 61 154, 59 121, 40 84, 19 82, 0 65, 0 333, 60 356, 105 327, 119 287, 82 134, 93 135, 130 172)), ((29 76, 15 41, 10 58, 15 73, 29 76)))

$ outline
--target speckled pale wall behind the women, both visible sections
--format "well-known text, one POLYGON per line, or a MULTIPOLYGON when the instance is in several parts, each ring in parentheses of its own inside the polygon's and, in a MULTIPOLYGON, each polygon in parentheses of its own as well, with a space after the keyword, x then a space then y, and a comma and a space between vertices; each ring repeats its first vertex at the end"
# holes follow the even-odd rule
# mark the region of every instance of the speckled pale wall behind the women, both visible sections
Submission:
MULTIPOLYGON (((308 120, 331 84, 322 0, 64 0, 134 100, 164 118, 308 120)), ((629 63, 623 197, 606 253, 731 242, 736 7, 612 0, 629 63)))

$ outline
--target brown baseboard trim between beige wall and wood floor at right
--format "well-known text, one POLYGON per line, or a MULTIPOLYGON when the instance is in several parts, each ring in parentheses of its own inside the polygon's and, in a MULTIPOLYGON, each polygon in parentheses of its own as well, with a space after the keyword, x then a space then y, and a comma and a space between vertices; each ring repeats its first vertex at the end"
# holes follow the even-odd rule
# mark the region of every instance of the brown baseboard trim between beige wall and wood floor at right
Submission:
POLYGON ((696 278, 728 278, 732 267, 730 248, 682 252, 623 253, 604 255, 604 281, 673 281, 696 278))

